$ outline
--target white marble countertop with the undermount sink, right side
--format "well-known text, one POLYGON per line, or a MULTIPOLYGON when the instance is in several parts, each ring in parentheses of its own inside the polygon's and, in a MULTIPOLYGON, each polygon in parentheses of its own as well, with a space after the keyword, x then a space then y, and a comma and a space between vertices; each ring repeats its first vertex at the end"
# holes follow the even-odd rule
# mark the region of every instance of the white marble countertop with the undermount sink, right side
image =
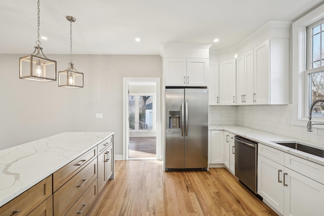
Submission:
POLYGON ((259 131, 257 129, 252 129, 249 127, 242 127, 242 126, 236 126, 236 125, 209 125, 209 130, 210 131, 217 131, 217 130, 222 130, 222 131, 227 131, 229 133, 248 138, 250 140, 256 141, 258 143, 270 146, 272 148, 287 152, 289 154, 295 155, 297 157, 312 161, 314 163, 320 164, 324 166, 324 158, 318 157, 312 154, 308 154, 306 152, 302 152, 296 149, 292 149, 286 146, 282 146, 279 144, 274 143, 273 141, 284 141, 284 142, 289 142, 289 141, 297 141, 301 142, 307 146, 311 146, 314 148, 322 149, 324 150, 324 142, 323 143, 314 143, 314 142, 309 142, 306 140, 300 140, 296 139, 293 137, 287 137, 283 135, 278 135, 278 134, 272 134, 272 133, 267 133, 264 131, 259 131))

